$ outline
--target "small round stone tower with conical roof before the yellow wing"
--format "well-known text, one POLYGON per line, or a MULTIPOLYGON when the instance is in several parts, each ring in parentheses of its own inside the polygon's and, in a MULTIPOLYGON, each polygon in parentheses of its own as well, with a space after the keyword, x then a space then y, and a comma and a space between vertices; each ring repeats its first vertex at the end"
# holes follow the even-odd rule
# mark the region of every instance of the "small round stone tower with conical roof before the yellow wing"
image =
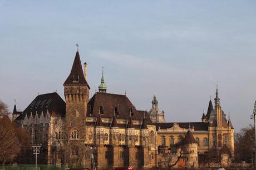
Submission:
POLYGON ((186 133, 183 141, 183 156, 186 158, 186 168, 198 168, 198 143, 190 130, 186 133))

